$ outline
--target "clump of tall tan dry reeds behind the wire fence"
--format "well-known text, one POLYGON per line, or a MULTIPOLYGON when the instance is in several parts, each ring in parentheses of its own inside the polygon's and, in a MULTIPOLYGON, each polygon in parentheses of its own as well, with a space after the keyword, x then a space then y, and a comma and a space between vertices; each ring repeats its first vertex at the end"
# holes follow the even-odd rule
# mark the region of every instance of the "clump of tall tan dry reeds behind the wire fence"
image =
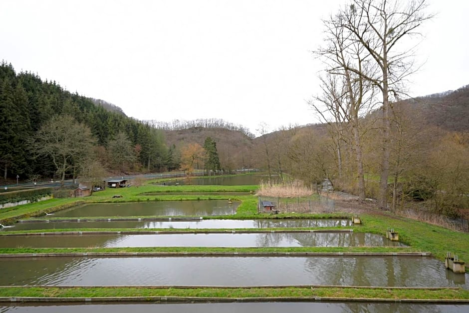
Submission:
POLYGON ((257 196, 263 197, 297 198, 308 197, 312 194, 313 191, 304 187, 303 183, 299 180, 283 184, 261 181, 257 190, 257 196))

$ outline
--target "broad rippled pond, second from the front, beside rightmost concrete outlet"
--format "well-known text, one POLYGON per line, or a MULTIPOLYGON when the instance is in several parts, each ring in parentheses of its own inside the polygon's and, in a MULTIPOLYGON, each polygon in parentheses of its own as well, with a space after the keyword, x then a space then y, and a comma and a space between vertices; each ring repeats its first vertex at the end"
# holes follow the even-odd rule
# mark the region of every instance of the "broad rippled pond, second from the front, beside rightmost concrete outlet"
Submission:
MULTIPOLYGON (((469 288, 431 257, 41 257, 0 259, 0 286, 341 285, 469 288)), ((461 278, 462 276, 462 278, 461 278)))

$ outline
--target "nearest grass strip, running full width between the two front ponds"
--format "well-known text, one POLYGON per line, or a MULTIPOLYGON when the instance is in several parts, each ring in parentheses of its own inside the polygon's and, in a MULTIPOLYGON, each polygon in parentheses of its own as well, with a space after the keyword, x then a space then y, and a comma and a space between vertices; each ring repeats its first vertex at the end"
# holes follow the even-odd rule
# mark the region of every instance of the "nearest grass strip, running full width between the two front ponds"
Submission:
MULTIPOLYGON (((325 297, 360 299, 468 300, 463 289, 388 289, 388 288, 150 288, 150 287, 0 287, 0 297, 204 297, 204 298, 274 298, 325 297)), ((149 299, 150 301, 151 299, 149 299)), ((273 299, 272 299, 273 300, 273 299)))

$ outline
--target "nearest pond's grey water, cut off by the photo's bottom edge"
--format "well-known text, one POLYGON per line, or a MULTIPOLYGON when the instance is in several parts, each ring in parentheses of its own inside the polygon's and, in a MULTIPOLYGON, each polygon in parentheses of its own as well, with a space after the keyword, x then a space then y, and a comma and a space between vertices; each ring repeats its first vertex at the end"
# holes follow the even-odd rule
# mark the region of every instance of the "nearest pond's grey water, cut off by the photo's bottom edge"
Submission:
POLYGON ((395 303, 212 303, 212 304, 60 304, 3 305, 0 312, 15 313, 467 313, 469 305, 395 304, 395 303))

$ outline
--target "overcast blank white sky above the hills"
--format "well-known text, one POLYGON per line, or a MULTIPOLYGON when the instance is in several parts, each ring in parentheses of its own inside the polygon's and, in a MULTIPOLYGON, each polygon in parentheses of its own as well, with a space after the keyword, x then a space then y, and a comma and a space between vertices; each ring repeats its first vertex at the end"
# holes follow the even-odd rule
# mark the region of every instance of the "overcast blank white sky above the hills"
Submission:
MULTIPOLYGON (((137 119, 317 122, 311 50, 347 0, 0 0, 0 59, 137 119)), ((469 1, 430 0, 413 96, 469 84, 469 1)))

